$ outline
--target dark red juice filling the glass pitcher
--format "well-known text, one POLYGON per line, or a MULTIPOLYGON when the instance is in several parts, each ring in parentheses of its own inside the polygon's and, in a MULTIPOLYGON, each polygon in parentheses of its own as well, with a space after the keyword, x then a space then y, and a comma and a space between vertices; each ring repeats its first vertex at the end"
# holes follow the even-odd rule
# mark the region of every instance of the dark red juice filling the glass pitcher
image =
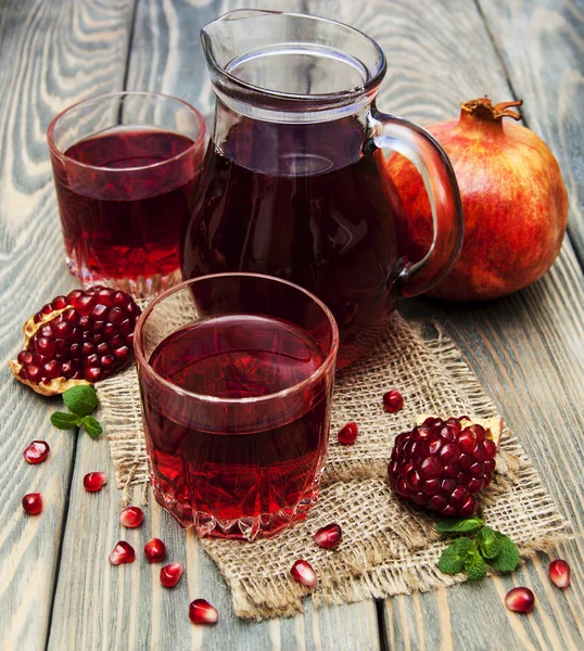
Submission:
POLYGON ((341 335, 337 366, 388 326, 403 233, 383 152, 363 152, 353 118, 316 125, 241 119, 207 150, 182 245, 182 276, 249 271, 323 301, 341 335))

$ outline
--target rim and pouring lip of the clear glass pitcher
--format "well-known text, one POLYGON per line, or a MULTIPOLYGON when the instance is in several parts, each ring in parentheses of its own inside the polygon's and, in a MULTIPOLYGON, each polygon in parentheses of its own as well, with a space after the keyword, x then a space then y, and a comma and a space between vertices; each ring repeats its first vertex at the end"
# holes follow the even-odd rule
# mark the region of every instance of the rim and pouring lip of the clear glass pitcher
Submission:
MULTIPOLYGON (((326 18, 323 16, 316 16, 316 15, 312 15, 312 14, 303 14, 303 13, 287 12, 287 11, 263 10, 263 9, 236 9, 236 10, 229 11, 229 12, 218 16, 217 18, 214 18, 207 25, 204 25, 201 29, 201 39, 202 39, 202 44, 203 44, 203 52, 205 53, 207 63, 211 65, 213 72, 217 75, 217 77, 219 79, 225 79, 228 84, 240 89, 240 91, 242 91, 243 93, 259 95, 264 100, 270 99, 274 101, 280 101, 282 103, 282 110, 285 110, 285 108, 283 108, 283 106, 285 106, 285 104, 288 102, 299 102, 299 104, 302 105, 302 110, 306 110, 307 107, 313 107, 314 110, 319 110, 321 107, 321 105, 323 108, 328 108, 334 104, 344 105, 344 104, 348 104, 348 103, 355 103, 363 97, 369 98, 369 95, 371 93, 373 93, 376 91, 376 89, 379 87, 379 85, 381 84, 381 81, 388 71, 388 60, 385 58, 385 53, 383 52, 383 50, 381 49, 379 43, 372 37, 370 37, 368 34, 365 34, 365 31, 361 31, 360 29, 357 29, 356 27, 353 27, 352 25, 342 23, 341 21, 334 21, 333 18, 326 18), (232 16, 233 14, 238 14, 238 13, 250 14, 250 15, 253 13, 257 13, 258 15, 261 15, 261 14, 280 14, 280 15, 284 15, 284 16, 290 16, 292 18, 303 18, 303 20, 306 18, 306 20, 312 20, 312 21, 319 22, 319 23, 328 23, 328 24, 334 25, 337 27, 343 27, 343 28, 350 29, 350 30, 358 34, 360 37, 363 37, 365 40, 367 40, 370 46, 373 47, 373 49, 376 50, 376 52, 379 55, 380 63, 379 63, 377 69, 369 71, 371 76, 361 86, 357 86, 355 88, 345 88, 343 90, 337 90, 333 92, 304 94, 304 93, 293 93, 293 92, 272 90, 269 88, 264 88, 262 86, 256 86, 254 84, 251 84, 249 81, 244 81, 243 79, 240 79, 236 75, 232 75, 229 71, 225 69, 225 67, 221 66, 217 62, 215 54, 213 52, 212 39, 206 31, 207 27, 210 25, 212 25, 213 23, 225 20, 227 16, 232 16)), ((214 86, 215 86, 215 82, 214 82, 214 86)), ((224 92, 226 92, 227 94, 229 94, 229 92, 226 89, 221 88, 221 90, 224 92)))

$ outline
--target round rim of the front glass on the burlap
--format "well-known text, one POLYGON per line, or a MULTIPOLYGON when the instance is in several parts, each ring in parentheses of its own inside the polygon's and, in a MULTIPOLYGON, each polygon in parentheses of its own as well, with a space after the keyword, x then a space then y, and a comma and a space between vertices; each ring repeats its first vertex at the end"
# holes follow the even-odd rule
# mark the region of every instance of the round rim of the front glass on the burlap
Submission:
POLYGON ((288 280, 283 280, 281 278, 276 278, 274 276, 266 276, 265 273, 249 273, 249 272, 243 272, 243 271, 241 271, 241 272, 234 271, 234 272, 226 272, 226 273, 210 273, 207 276, 199 276, 198 278, 191 278, 189 280, 185 280, 181 283, 174 285, 173 288, 169 288, 168 290, 162 292, 153 301, 151 301, 148 304, 148 306, 142 310, 142 314, 140 315, 138 321, 136 322, 135 334, 134 334, 134 354, 136 357, 136 361, 140 367, 142 367, 142 369, 144 371, 147 371, 147 373, 149 375, 151 375, 156 382, 161 383, 163 386, 170 390, 173 393, 175 393, 178 396, 181 396, 183 398, 195 399, 201 403, 214 404, 214 405, 225 405, 225 404, 227 404, 227 405, 245 405, 245 404, 247 404, 249 405, 249 404, 256 404, 256 403, 268 403, 269 400, 288 397, 289 395, 294 394, 299 391, 302 391, 303 388, 305 388, 306 386, 309 386, 310 384, 314 384, 317 380, 320 379, 321 375, 325 375, 328 372, 331 365, 335 361, 338 352, 339 352, 339 327, 337 326, 337 321, 335 321, 334 317, 332 316, 332 312, 325 305, 325 303, 322 303, 322 301, 320 301, 320 298, 318 298, 312 292, 308 292, 304 288, 301 288, 300 285, 297 285, 293 282, 290 282, 288 280), (316 303, 318 305, 318 307, 320 307, 320 309, 322 310, 325 316, 327 317, 329 324, 331 327, 331 331, 332 331, 332 342, 331 342, 330 350, 327 354, 322 363, 316 369, 316 371, 314 371, 310 375, 308 375, 308 378, 305 378, 304 380, 302 380, 302 382, 297 382, 296 384, 293 384, 292 386, 288 386, 287 388, 282 388, 281 391, 278 391, 276 393, 267 394, 265 396, 252 396, 252 397, 246 397, 246 398, 221 398, 218 396, 212 396, 212 395, 207 395, 207 394, 196 394, 196 393, 187 391, 185 388, 181 388, 180 386, 177 386, 169 380, 166 380, 165 378, 160 375, 151 366, 150 360, 147 360, 144 350, 143 350, 143 345, 142 345, 142 333, 143 333, 143 329, 144 329, 144 326, 145 326, 149 315, 152 312, 152 310, 154 309, 154 307, 157 304, 162 303, 165 298, 167 298, 172 294, 181 292, 182 290, 186 290, 187 288, 195 284, 196 282, 208 281, 208 280, 218 279, 218 278, 252 278, 252 279, 255 278, 255 279, 259 279, 259 280, 267 280, 269 282, 280 283, 283 285, 288 285, 288 286, 305 294, 306 296, 308 296, 308 298, 312 302, 316 303))

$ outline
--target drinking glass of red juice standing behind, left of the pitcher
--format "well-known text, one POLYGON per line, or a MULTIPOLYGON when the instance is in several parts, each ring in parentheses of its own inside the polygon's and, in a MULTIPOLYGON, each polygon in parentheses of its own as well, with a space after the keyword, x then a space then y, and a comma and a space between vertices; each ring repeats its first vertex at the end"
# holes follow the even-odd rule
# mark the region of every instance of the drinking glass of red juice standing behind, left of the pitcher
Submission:
POLYGON ((201 114, 161 93, 114 92, 63 111, 47 138, 66 260, 84 288, 147 297, 179 282, 201 114))

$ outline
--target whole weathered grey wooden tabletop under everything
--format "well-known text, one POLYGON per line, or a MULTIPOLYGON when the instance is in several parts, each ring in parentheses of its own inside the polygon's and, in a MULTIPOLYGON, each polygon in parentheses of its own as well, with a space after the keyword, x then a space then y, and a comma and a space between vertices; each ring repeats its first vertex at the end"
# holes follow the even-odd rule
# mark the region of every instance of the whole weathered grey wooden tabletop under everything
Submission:
MULTIPOLYGON (((582 0, 3 0, 0 3, 0 646, 29 649, 583 649, 584 648, 584 2, 582 0), (123 570, 106 558, 119 537, 119 494, 105 439, 55 430, 59 399, 11 379, 7 362, 25 319, 75 282, 65 270, 45 132, 82 98, 122 89, 177 94, 211 111, 200 27, 234 8, 267 7, 330 16, 376 38, 389 59, 382 110, 431 123, 488 93, 523 98, 525 124, 551 146, 570 193, 569 235, 539 282, 474 307, 412 302, 437 315, 518 434, 577 536, 555 550, 573 585, 557 590, 548 557, 511 577, 385 602, 313 610, 258 624, 232 614, 229 591, 191 533, 156 505, 139 549, 161 535, 187 579, 161 588, 157 566, 123 570), (29 467, 33 438, 50 461, 29 467), (99 495, 82 476, 106 470, 99 495), (42 492, 41 516, 21 509, 42 492), (529 616, 507 612, 505 592, 537 596, 529 616), (221 621, 192 626, 188 604, 208 598, 221 621)), ((138 496, 136 496, 138 499, 138 496)))

